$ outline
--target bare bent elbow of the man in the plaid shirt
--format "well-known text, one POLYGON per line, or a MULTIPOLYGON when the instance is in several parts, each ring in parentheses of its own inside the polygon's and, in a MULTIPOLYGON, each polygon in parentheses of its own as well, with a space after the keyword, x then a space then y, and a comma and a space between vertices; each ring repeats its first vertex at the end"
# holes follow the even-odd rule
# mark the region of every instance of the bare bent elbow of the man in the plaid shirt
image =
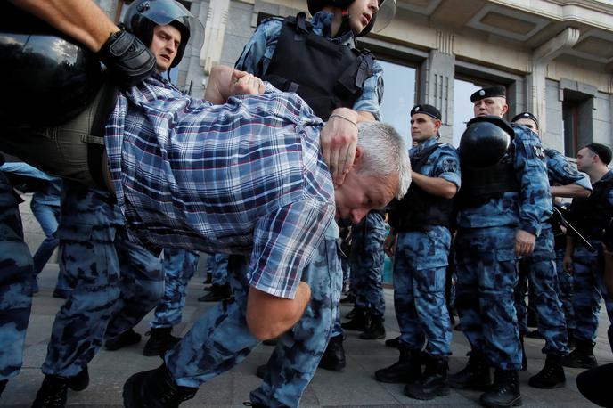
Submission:
POLYGON ((277 298, 254 287, 249 287, 247 299, 247 325, 254 337, 274 339, 290 330, 300 320, 311 298, 306 282, 298 284, 293 299, 277 298))

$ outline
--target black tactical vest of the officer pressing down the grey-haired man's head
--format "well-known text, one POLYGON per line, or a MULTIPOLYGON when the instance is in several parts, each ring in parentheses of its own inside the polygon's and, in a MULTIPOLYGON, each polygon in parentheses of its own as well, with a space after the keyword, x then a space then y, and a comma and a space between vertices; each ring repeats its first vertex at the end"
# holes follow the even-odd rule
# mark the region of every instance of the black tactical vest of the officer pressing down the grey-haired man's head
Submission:
POLYGON ((310 31, 305 13, 283 20, 274 55, 262 79, 304 99, 323 120, 354 106, 372 75, 372 54, 332 43, 310 31))

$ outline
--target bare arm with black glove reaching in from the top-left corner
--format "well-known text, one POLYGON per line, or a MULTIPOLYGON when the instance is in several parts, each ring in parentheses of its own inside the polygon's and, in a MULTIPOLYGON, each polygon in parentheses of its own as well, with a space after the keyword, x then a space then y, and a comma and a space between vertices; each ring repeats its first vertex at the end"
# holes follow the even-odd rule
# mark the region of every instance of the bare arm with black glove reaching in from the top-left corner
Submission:
POLYGON ((10 1, 97 53, 119 86, 134 86, 155 71, 149 48, 120 31, 93 0, 10 1))

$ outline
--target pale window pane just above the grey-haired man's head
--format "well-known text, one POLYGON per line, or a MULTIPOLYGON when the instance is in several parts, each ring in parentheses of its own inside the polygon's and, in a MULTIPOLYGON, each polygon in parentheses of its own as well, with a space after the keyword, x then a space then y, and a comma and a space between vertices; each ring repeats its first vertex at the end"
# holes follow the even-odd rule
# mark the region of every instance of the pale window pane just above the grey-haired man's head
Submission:
POLYGON ((417 70, 395 62, 377 59, 383 68, 385 82, 383 102, 381 102, 381 121, 394 126, 411 146, 409 114, 415 105, 415 79, 417 70))

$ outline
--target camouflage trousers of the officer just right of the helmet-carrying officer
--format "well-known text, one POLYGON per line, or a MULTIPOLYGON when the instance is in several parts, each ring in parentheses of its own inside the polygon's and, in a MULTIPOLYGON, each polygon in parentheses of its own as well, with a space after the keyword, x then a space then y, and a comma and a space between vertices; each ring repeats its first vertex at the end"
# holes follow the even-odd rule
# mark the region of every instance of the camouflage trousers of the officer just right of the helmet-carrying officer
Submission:
POLYGON ((566 319, 558 298, 558 273, 556 271, 553 233, 551 228, 543 228, 536 239, 535 252, 530 257, 519 260, 519 284, 516 288, 516 302, 519 332, 527 333, 526 279, 532 291, 538 316, 538 331, 545 338, 542 352, 546 355, 567 355, 568 339, 566 319))

